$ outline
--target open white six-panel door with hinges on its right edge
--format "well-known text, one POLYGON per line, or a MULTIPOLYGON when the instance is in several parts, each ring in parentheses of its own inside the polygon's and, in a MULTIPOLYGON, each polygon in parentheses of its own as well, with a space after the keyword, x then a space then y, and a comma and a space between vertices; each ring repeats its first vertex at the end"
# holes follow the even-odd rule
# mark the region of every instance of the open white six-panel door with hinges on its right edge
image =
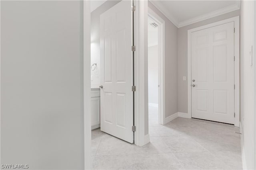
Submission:
POLYGON ((100 16, 100 129, 133 143, 131 14, 123 0, 100 16))

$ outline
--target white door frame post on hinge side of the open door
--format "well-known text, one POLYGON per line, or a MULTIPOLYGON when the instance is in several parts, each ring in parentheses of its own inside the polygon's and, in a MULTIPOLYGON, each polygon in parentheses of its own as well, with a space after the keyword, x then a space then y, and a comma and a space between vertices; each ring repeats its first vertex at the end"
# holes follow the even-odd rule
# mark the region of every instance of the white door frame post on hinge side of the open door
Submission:
MULTIPOLYGON (((134 53, 134 80, 136 86, 135 93, 135 114, 136 126, 134 143, 138 146, 145 145, 145 114, 148 110, 148 86, 147 82, 147 55, 148 55, 148 1, 134 1, 136 10, 134 12, 134 43, 136 52, 134 53)), ((147 134, 146 134, 147 135, 147 134)))

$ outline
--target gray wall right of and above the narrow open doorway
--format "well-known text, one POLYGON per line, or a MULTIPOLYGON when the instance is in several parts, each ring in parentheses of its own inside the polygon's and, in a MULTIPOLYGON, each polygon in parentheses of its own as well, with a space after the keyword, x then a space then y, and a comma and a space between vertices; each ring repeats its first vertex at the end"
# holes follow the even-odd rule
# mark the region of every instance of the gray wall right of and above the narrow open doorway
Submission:
POLYGON ((165 21, 165 116, 178 112, 178 28, 151 2, 148 6, 165 21))

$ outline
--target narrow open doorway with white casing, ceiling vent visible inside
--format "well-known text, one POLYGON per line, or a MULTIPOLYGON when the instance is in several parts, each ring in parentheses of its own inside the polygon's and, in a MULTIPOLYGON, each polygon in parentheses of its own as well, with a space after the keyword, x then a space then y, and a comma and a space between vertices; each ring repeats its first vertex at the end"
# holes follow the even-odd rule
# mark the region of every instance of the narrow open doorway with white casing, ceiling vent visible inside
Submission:
POLYGON ((164 123, 164 21, 148 8, 148 125, 164 123))

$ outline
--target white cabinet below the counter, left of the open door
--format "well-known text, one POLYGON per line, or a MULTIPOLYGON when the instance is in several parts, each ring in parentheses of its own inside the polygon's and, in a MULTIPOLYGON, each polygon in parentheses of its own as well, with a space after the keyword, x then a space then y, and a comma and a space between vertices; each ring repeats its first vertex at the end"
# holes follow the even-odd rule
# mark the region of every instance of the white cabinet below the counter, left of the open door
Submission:
POLYGON ((100 88, 91 89, 92 129, 100 127, 100 88))

